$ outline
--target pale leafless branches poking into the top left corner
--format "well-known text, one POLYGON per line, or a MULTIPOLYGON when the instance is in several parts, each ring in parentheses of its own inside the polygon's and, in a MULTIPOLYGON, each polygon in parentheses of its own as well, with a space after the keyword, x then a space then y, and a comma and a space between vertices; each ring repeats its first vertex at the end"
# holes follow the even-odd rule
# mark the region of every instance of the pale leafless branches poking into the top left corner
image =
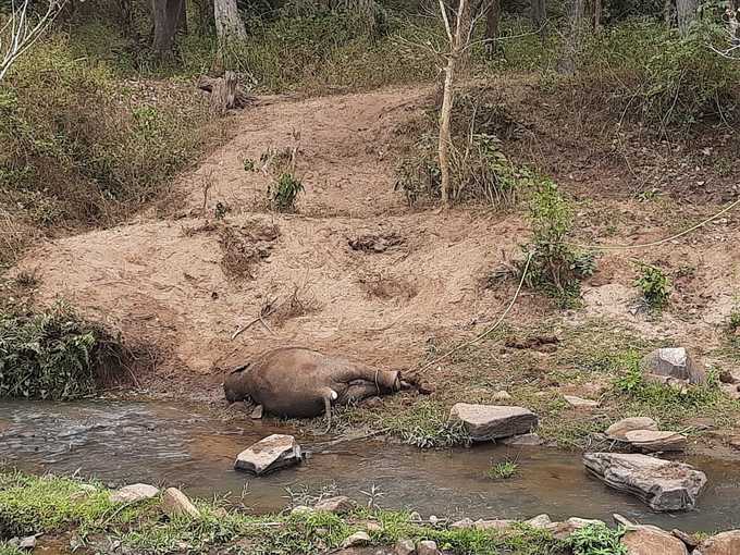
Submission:
POLYGON ((15 61, 28 50, 38 38, 53 23, 64 8, 64 0, 51 0, 46 13, 33 21, 28 13, 30 0, 23 0, 17 4, 11 0, 11 13, 2 27, 0 27, 0 81, 10 71, 15 61))

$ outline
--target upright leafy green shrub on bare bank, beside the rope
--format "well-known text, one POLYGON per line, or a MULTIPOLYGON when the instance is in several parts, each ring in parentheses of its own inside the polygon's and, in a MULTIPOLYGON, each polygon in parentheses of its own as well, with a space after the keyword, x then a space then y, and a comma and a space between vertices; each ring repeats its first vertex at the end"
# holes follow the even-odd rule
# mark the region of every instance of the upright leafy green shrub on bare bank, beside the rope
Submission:
MULTIPOLYGON (((568 245, 572 210, 557 184, 543 178, 530 203, 532 240, 523 247, 531 257, 525 282, 570 307, 580 298, 580 282, 596 268, 593 251, 580 251, 568 245)), ((523 272, 526 260, 519 263, 523 272)))

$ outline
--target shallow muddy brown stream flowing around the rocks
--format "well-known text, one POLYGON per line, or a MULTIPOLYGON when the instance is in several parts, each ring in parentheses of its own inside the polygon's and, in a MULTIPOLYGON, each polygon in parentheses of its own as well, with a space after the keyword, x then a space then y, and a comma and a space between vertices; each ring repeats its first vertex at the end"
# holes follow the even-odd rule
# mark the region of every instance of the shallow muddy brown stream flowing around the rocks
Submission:
POLYGON ((366 502, 362 492, 374 484, 380 506, 424 516, 529 518, 547 513, 554 519, 610 521, 619 513, 688 531, 740 527, 737 461, 689 458, 708 477, 696 509, 658 515, 588 476, 578 454, 544 448, 479 445, 420 452, 382 441, 329 445, 324 437, 299 437, 311 454, 300 467, 264 478, 233 470, 238 452, 275 431, 286 433, 247 417, 224 423, 177 404, 3 402, 0 460, 36 472, 79 470, 111 485, 181 485, 195 496, 231 493, 238 498, 248 482, 245 503, 257 513, 282 509, 288 502, 286 488, 318 490, 333 483, 342 494, 366 502), (519 474, 488 479, 491 462, 504 458, 518 460, 519 474))

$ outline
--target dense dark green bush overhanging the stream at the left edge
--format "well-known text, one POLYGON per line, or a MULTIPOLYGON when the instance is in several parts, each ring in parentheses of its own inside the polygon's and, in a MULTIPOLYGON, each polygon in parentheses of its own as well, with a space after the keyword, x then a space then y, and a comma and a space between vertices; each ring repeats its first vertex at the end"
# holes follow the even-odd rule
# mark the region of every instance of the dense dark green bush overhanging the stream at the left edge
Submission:
POLYGON ((64 304, 36 314, 0 312, 0 397, 89 395, 126 359, 118 338, 64 304))

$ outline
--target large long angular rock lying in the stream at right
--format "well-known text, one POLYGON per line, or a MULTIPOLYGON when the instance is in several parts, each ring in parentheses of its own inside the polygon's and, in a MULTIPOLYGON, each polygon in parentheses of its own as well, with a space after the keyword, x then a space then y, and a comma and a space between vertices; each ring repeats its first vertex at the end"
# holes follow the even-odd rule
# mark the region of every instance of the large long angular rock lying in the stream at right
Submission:
POLYGON ((631 493, 653 510, 693 508, 706 476, 683 462, 648 455, 587 453, 583 465, 608 486, 631 493))

